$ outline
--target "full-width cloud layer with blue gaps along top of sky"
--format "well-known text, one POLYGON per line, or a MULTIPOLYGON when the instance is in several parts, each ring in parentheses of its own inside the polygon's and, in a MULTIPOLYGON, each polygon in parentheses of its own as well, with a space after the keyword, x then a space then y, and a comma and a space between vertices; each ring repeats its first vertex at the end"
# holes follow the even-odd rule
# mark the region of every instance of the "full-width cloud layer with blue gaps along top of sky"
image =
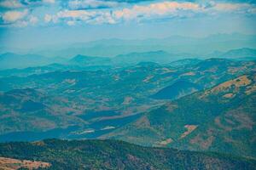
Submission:
POLYGON ((255 15, 250 1, 3 0, 2 26, 102 25, 204 15, 255 15), (45 9, 47 7, 52 9, 45 9))

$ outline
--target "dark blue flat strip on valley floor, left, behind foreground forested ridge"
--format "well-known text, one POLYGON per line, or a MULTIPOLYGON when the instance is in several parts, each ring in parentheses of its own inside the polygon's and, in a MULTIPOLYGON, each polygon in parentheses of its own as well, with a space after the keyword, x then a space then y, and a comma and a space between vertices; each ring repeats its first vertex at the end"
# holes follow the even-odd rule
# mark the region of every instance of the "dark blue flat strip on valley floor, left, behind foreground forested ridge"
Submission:
MULTIPOLYGON (((106 115, 106 112, 102 114, 106 115)), ((87 127, 72 126, 67 128, 55 128, 45 132, 26 131, 17 133, 6 133, 0 135, 0 142, 37 141, 42 139, 96 139, 103 134, 111 133, 113 130, 119 127, 123 127, 126 124, 137 120, 139 116, 141 115, 137 114, 134 116, 120 117, 117 119, 102 120, 98 122, 93 122, 87 127)))

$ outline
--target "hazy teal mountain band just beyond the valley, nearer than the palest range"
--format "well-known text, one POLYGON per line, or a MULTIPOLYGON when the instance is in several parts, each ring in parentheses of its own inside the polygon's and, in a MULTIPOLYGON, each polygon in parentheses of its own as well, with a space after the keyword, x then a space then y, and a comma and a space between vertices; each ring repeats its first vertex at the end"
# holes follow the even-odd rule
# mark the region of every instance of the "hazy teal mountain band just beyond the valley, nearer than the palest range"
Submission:
MULTIPOLYGON (((182 59, 206 59, 206 58, 223 58, 223 59, 256 59, 256 49, 253 48, 238 48, 232 49, 228 52, 215 51, 212 54, 195 56, 193 54, 170 54, 163 50, 148 51, 148 52, 133 52, 129 54, 119 54, 113 58, 97 57, 88 55, 76 55, 72 59, 63 59, 60 57, 46 58, 37 54, 2 54, 0 55, 0 68, 13 69, 13 68, 26 68, 35 67, 49 64, 61 65, 79 65, 79 66, 126 66, 136 65, 140 62, 155 62, 159 64, 169 64, 171 62, 182 59)), ((185 60, 183 60, 185 62, 185 60)), ((174 65, 174 63, 173 63, 174 65)), ((63 66, 62 66, 63 67, 63 66)))

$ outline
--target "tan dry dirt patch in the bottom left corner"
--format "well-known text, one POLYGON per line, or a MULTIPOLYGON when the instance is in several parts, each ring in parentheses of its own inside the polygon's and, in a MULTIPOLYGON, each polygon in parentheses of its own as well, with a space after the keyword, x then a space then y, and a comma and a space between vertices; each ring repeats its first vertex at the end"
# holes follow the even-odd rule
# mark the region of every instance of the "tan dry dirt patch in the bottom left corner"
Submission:
POLYGON ((20 167, 32 169, 38 169, 39 167, 50 167, 50 163, 44 161, 28 161, 18 160, 6 157, 0 157, 0 169, 4 170, 16 170, 20 167))

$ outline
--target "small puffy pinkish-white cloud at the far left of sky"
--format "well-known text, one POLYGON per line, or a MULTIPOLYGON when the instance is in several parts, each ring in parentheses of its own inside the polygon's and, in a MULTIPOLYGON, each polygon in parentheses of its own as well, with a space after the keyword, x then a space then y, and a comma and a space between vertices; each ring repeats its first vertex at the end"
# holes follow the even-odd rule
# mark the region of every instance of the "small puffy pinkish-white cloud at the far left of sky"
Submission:
POLYGON ((8 11, 8 12, 4 13, 2 18, 5 23, 14 23, 17 20, 21 20, 21 19, 25 18, 27 14, 28 14, 27 9, 25 9, 23 11, 13 10, 13 11, 8 11))

